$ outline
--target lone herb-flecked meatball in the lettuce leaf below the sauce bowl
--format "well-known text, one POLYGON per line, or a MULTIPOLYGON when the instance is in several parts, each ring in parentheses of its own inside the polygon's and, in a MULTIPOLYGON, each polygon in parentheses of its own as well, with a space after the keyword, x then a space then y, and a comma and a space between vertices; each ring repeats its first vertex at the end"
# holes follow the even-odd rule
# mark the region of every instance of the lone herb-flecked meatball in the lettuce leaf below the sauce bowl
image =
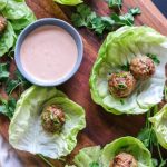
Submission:
POLYGON ((48 132, 59 132, 65 124, 65 114, 56 105, 48 106, 42 111, 41 122, 48 132))

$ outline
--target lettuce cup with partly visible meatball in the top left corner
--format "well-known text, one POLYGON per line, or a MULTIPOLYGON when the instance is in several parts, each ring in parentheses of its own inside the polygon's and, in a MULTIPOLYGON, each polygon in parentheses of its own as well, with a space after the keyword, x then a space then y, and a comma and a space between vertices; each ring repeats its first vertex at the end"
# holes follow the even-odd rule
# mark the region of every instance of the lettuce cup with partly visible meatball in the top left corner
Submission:
POLYGON ((21 30, 35 20, 24 0, 0 0, 0 33, 3 31, 0 35, 0 57, 14 47, 21 30))

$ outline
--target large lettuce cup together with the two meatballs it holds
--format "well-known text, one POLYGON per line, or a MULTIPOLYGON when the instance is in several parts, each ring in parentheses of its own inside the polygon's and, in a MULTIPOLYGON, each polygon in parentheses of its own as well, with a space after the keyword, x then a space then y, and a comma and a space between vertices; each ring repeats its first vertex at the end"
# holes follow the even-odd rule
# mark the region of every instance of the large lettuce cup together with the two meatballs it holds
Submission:
POLYGON ((144 114, 164 97, 167 38, 149 27, 107 36, 90 75, 94 101, 106 111, 144 114))

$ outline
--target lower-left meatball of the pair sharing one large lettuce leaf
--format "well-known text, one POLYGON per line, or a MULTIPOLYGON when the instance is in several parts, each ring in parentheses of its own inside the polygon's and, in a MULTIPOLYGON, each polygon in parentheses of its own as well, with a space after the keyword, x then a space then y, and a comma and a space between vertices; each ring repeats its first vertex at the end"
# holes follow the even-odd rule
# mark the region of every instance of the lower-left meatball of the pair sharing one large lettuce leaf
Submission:
POLYGON ((111 73, 108 80, 108 87, 111 95, 118 98, 129 96, 135 89, 136 80, 130 72, 121 71, 111 73))

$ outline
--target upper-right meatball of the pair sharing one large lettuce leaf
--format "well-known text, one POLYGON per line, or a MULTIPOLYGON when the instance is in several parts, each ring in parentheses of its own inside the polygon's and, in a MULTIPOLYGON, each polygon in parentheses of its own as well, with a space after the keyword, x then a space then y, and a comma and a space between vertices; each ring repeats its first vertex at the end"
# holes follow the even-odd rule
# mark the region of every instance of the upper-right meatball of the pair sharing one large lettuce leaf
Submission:
POLYGON ((148 79, 155 73, 154 61, 147 56, 136 57, 130 62, 130 72, 136 79, 148 79))

